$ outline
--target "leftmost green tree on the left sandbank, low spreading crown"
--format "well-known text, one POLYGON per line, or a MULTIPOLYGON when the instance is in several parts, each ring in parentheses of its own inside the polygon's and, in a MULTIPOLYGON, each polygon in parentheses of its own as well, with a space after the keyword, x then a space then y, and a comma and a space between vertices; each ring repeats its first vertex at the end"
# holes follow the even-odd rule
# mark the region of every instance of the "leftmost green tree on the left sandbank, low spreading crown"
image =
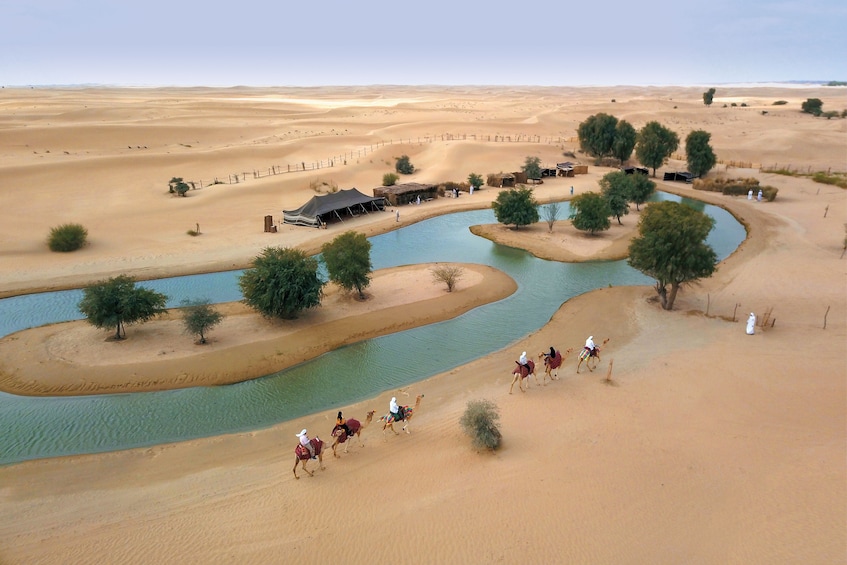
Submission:
POLYGON ((126 336, 126 324, 146 322, 165 312, 167 301, 164 294, 136 286, 135 279, 120 275, 83 289, 77 308, 92 326, 115 328, 113 339, 120 340, 126 336))

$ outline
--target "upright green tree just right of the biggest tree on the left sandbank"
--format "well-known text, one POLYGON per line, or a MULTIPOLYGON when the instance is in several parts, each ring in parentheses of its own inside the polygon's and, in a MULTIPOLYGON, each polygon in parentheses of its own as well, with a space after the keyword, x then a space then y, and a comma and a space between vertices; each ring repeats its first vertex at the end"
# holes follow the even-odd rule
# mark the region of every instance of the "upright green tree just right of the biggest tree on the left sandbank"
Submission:
POLYGON ((347 231, 321 248, 329 280, 364 299, 365 287, 371 284, 371 242, 363 233, 347 231))

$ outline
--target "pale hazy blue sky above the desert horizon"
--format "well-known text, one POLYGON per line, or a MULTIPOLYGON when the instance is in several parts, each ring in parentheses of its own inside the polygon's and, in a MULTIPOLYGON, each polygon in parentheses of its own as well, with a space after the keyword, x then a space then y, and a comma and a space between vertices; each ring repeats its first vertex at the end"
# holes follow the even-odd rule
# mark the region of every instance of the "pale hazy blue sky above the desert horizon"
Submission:
POLYGON ((0 21, 3 86, 847 80, 844 0, 0 0, 0 21))

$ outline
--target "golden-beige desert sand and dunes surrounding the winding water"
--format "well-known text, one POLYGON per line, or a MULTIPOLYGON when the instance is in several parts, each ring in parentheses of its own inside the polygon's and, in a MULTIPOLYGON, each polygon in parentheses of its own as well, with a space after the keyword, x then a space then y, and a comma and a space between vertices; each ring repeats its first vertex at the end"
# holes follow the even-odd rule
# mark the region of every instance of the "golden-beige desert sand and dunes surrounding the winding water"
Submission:
MULTIPOLYGON (((0 563, 844 562, 847 197, 760 167, 847 169, 847 122, 799 112, 809 97, 845 108, 847 89, 719 88, 710 108, 702 90, 3 89, 3 296, 122 273, 244 267, 268 245, 314 252, 339 229, 262 232, 263 216, 278 220, 282 209, 299 206, 314 195, 311 183, 369 193, 402 154, 418 169, 409 180, 420 182, 518 170, 529 155, 545 165, 573 160, 562 154, 576 151, 576 127, 601 111, 636 128, 658 120, 681 139, 705 129, 723 161, 711 174, 755 176, 779 195, 758 203, 659 182, 660 190, 727 208, 747 227, 745 243, 713 277, 687 287, 671 312, 656 304, 652 287, 578 296, 513 346, 345 406, 347 417, 364 419, 368 410, 384 413, 391 396, 411 403, 425 394, 410 434, 383 435, 374 422, 364 446, 354 441, 338 459, 325 455, 325 470, 313 477, 291 473, 294 434, 306 427, 328 436, 334 412, 249 433, 2 467, 0 563), (297 163, 320 168, 288 173, 297 163), (254 178, 272 167, 286 172, 254 178), (238 183, 208 184, 245 172, 238 183), (174 176, 202 179, 203 188, 171 197, 174 176), (91 243, 50 253, 47 233, 65 222, 86 226, 91 243), (200 236, 186 235, 198 224, 200 236), (748 336, 749 312, 767 313, 773 324, 748 336), (572 354, 559 380, 508 394, 521 350, 578 349, 588 335, 610 339, 594 372, 577 374, 572 354), (500 409, 504 441, 494 453, 472 449, 458 425, 466 403, 479 398, 500 409)), ((565 199, 571 186, 576 194, 597 189, 610 169, 576 155, 589 173, 547 179, 535 188, 539 201, 565 199)), ((672 159, 664 170, 684 168, 672 159)), ((400 224, 487 207, 496 192, 403 206, 400 224)), ((600 237, 565 219, 552 232, 545 224, 474 231, 580 261, 625 254, 636 222, 633 211, 625 227, 613 222, 600 237)), ((397 227, 393 212, 346 224, 369 235, 397 227)), ((346 319, 368 328, 369 317, 380 318, 371 330, 379 333, 512 290, 508 277, 474 266, 445 298, 429 281, 420 284, 425 269, 402 270, 420 289, 407 299, 454 301, 432 318, 393 318, 391 308, 365 301, 350 303, 355 314, 346 319)), ((382 292, 380 281, 388 292, 391 276, 376 273, 371 292, 382 292)), ((408 284, 397 277, 393 284, 408 284)), ((228 307, 234 324, 256 323, 228 307)), ((177 323, 133 331, 155 341, 177 323)), ((115 344, 103 332, 59 326, 20 332, 33 341, 4 355, 6 374, 60 358, 91 371, 120 366, 104 357, 115 344)), ((261 347, 249 335, 236 343, 241 327, 213 330, 211 347, 261 347)), ((340 328, 321 335, 324 348, 346 339, 340 328)), ((12 351, 2 349, 9 341, 0 351, 12 351)), ((196 369, 202 361, 191 361, 191 350, 173 351, 171 362, 196 369)), ((157 371, 157 362, 143 367, 153 378, 170 372, 157 371)), ((222 373, 239 371, 249 369, 222 373)))

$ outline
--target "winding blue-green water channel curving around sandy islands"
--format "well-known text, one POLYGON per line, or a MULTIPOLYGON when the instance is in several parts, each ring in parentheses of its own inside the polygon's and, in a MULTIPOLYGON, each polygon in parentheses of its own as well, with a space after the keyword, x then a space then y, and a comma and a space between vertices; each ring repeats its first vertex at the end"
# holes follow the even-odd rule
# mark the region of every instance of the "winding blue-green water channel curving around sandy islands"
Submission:
MULTIPOLYGON (((715 218, 708 243, 719 259, 746 236, 744 227, 721 208, 666 193, 656 199, 682 200, 715 218)), ((559 217, 568 214, 563 203, 559 217)), ((508 298, 452 320, 352 344, 228 386, 49 398, 0 393, 0 465, 267 428, 420 381, 502 349, 544 325, 555 311, 551 305, 573 296, 608 285, 653 283, 626 261, 545 261, 468 230, 495 221, 490 209, 432 218, 372 237, 371 259, 374 269, 434 261, 491 265, 517 281, 518 290, 508 298)), ((186 298, 229 302, 242 298, 240 274, 228 271, 139 284, 166 294, 169 307, 186 298)), ((0 300, 0 336, 80 319, 76 305, 81 297, 81 290, 71 290, 0 300)), ((585 331, 587 335, 591 328, 585 331)))

